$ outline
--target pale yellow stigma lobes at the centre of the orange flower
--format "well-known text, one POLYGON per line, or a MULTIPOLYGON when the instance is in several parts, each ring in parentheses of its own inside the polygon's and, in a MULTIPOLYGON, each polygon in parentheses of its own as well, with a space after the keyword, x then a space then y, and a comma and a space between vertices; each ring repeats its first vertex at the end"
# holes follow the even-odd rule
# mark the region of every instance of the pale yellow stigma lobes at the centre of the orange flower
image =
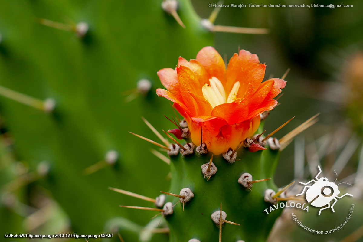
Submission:
POLYGON ((234 83, 227 99, 224 87, 218 78, 212 77, 209 79, 209 83, 211 85, 208 85, 207 83, 204 84, 202 87, 202 93, 204 98, 207 99, 213 108, 223 103, 231 103, 237 98, 240 82, 234 83))

